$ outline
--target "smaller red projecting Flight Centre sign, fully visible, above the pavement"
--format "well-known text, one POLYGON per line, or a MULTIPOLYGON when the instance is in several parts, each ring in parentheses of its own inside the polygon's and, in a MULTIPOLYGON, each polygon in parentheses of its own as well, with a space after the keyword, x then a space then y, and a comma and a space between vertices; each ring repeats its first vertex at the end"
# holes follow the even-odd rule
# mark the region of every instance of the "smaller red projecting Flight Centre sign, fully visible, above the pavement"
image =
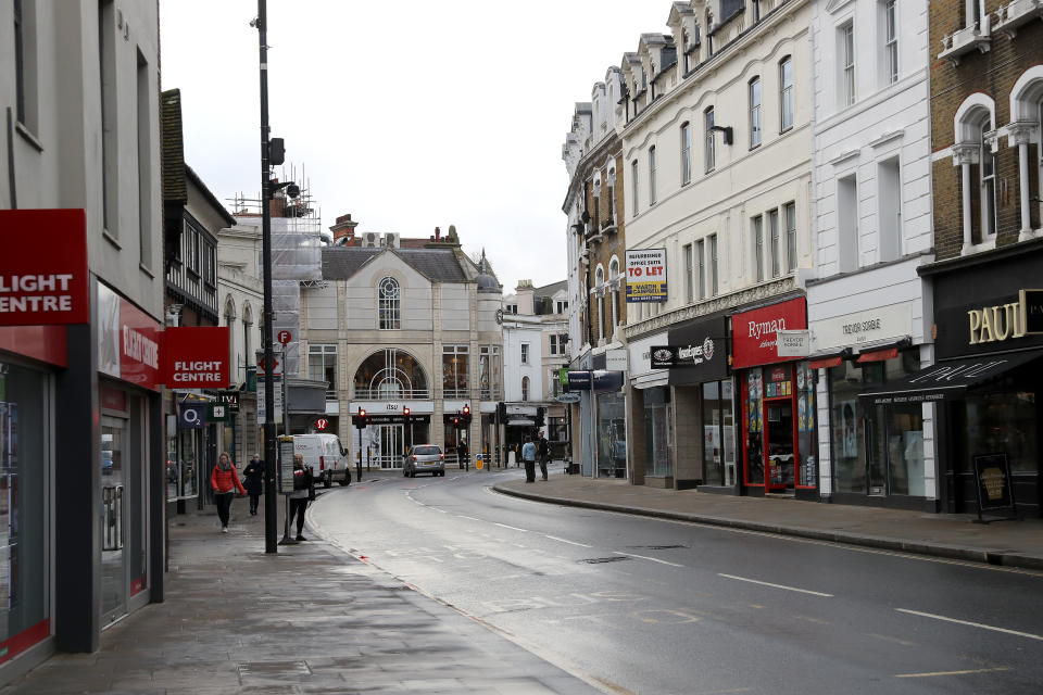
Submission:
POLYGON ((228 387, 228 327, 183 326, 166 329, 164 363, 169 389, 228 387))

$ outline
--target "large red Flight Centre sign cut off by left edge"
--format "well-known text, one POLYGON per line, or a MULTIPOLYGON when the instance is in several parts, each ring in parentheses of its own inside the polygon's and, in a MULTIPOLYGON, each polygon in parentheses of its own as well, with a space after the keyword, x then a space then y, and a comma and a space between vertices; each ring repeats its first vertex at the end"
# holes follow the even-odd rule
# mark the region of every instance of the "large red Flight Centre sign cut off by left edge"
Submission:
POLYGON ((83 210, 0 211, 0 326, 90 323, 83 210))

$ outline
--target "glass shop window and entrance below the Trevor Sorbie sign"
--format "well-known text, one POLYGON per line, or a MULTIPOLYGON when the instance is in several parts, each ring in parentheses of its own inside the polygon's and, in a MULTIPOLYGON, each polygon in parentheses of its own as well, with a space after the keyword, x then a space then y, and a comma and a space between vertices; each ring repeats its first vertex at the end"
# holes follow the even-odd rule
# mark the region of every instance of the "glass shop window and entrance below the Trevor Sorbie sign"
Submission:
POLYGON ((920 403, 871 405, 858 393, 919 368, 919 350, 880 362, 844 361, 829 369, 833 490, 923 496, 923 415, 920 403))

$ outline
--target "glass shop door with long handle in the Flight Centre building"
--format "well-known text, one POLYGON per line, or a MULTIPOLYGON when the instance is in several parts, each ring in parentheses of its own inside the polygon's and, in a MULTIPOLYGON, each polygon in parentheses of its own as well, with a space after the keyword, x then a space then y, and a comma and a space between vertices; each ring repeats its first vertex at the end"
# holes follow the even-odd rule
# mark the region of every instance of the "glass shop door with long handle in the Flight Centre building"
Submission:
POLYGON ((127 568, 123 552, 127 488, 126 420, 101 418, 101 612, 102 624, 127 612, 127 568))

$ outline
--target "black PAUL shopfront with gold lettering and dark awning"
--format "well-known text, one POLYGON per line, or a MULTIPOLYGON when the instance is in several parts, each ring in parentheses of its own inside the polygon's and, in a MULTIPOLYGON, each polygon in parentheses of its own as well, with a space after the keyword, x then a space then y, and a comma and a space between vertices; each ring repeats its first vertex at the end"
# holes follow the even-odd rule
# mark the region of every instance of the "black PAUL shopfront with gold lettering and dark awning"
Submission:
POLYGON ((973 514, 976 456, 1004 454, 1018 513, 1043 510, 1043 240, 925 266, 935 364, 896 397, 939 406, 941 510, 973 514))

